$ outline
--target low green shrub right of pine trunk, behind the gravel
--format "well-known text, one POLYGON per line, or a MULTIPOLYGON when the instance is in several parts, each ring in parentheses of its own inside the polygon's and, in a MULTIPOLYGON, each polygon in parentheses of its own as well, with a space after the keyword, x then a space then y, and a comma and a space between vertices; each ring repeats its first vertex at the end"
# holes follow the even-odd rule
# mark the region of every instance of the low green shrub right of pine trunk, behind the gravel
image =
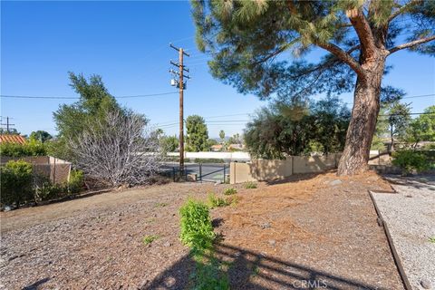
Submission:
POLYGON ((396 151, 392 153, 392 157, 392 164, 400 167, 404 174, 409 174, 413 170, 420 172, 429 169, 428 157, 419 151, 396 151))

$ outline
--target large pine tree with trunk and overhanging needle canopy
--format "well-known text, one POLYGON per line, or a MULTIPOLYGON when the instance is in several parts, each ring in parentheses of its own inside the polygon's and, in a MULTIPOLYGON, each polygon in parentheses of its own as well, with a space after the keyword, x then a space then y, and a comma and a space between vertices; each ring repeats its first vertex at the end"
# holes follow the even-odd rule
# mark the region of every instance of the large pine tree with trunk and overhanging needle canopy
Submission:
POLYGON ((192 1, 200 50, 214 77, 239 92, 282 99, 354 90, 338 173, 367 169, 392 53, 435 53, 435 1, 192 1), (406 33, 406 34, 403 34, 406 33), (304 56, 324 51, 318 63, 304 56))

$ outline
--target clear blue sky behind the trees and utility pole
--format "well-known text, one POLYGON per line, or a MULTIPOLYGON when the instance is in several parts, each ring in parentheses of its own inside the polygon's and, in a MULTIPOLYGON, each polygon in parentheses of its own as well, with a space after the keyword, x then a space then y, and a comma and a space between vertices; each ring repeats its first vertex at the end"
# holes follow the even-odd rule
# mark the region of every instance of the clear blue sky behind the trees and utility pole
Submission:
MULTIPOLYGON (((207 56, 194 42, 195 27, 189 2, 5 2, 1 4, 1 94, 76 96, 67 72, 102 75, 114 96, 175 91, 169 85, 169 60, 178 54, 169 42, 188 49, 192 80, 185 91, 185 117, 204 116, 210 137, 218 131, 242 132, 247 113, 266 102, 242 95, 214 80, 207 56), (233 115, 233 116, 228 116, 233 115), (217 117, 224 116, 224 117, 217 117), (237 121, 237 122, 235 122, 237 121)), ((435 58, 399 52, 390 56, 393 70, 384 84, 408 96, 435 93, 435 58)), ((352 93, 342 96, 352 102, 352 93)), ((412 111, 435 104, 435 97, 405 100, 412 111)), ((1 115, 18 131, 55 133, 53 111, 73 100, 1 99, 1 115)), ((168 134, 178 131, 178 94, 119 100, 163 124, 168 134)))

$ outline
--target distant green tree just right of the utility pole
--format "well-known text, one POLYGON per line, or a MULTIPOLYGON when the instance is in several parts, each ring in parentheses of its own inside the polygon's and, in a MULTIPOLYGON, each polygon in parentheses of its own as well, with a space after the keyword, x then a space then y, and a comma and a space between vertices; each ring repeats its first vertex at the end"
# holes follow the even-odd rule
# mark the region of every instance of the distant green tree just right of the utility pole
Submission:
POLYGON ((188 151, 208 151, 208 130, 204 118, 198 115, 191 115, 186 119, 186 138, 188 151))

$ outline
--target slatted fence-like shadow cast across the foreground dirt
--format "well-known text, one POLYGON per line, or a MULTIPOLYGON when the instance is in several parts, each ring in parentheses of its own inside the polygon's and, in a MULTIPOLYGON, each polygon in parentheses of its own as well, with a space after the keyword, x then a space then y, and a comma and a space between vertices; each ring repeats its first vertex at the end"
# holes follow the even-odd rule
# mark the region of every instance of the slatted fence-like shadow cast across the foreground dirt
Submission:
MULTIPOLYGON (((215 256, 227 266, 231 289, 379 289, 350 278, 302 266, 241 247, 220 243, 215 256)), ((194 268, 192 258, 183 256, 141 289, 186 289, 194 268)))

